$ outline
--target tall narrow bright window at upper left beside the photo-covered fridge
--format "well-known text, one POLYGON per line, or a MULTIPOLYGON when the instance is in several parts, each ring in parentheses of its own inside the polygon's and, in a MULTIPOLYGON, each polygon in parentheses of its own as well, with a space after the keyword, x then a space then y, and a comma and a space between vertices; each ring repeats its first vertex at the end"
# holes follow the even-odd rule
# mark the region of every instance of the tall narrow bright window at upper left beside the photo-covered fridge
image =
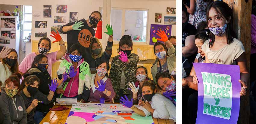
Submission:
POLYGON ((23 39, 26 39, 32 29, 32 6, 23 6, 23 39))

